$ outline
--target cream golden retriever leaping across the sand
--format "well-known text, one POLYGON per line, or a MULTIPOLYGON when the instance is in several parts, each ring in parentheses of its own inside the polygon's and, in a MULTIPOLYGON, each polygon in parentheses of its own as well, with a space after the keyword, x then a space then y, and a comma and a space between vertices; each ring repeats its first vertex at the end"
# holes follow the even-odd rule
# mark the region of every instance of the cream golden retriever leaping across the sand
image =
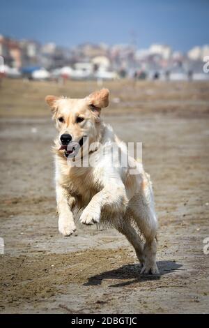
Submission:
POLYGON ((142 164, 100 117, 109 105, 109 91, 95 91, 82 99, 47 96, 45 100, 59 131, 54 142, 59 232, 64 236, 75 232, 77 212, 85 225, 111 225, 134 247, 141 274, 157 274, 152 184, 142 164), (117 152, 119 156, 114 156, 117 152), (127 165, 121 163, 124 154, 127 165))

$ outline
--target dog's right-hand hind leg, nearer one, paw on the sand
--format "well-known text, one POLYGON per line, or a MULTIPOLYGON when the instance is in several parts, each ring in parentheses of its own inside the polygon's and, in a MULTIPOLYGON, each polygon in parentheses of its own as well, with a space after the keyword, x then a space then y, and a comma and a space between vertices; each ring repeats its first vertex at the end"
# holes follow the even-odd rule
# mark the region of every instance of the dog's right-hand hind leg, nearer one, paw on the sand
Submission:
POLYGON ((155 214, 153 194, 135 195, 134 200, 130 202, 133 218, 136 221, 141 234, 144 235, 146 242, 144 244, 144 267, 141 274, 158 274, 156 264, 157 252, 157 217, 155 214))

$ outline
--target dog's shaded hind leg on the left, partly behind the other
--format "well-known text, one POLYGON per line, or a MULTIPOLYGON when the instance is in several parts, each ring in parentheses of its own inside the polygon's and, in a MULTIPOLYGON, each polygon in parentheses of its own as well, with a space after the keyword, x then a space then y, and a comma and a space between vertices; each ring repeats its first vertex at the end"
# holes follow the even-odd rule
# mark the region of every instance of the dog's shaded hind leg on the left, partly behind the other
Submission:
POLYGON ((134 250, 137 254, 137 258, 139 259, 139 262, 141 264, 144 264, 144 251, 143 251, 143 244, 141 242, 141 238, 137 231, 132 227, 129 220, 118 221, 114 224, 114 227, 121 232, 121 234, 124 234, 124 236, 127 238, 127 240, 132 244, 134 247, 134 250))

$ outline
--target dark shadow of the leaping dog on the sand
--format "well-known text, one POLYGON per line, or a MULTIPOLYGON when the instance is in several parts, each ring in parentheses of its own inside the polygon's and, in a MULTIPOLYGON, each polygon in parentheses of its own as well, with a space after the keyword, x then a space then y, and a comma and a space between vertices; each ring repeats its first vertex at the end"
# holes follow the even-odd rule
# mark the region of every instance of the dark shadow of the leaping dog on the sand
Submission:
POLYGON ((123 287, 127 285, 131 285, 132 283, 140 283, 143 281, 153 281, 160 279, 164 274, 169 274, 170 272, 180 269, 182 264, 178 264, 173 261, 158 261, 157 267, 160 271, 160 274, 150 275, 150 274, 140 274, 141 265, 140 264, 127 264, 123 265, 123 267, 119 267, 118 269, 104 271, 101 274, 97 274, 95 276, 91 276, 88 278, 87 283, 84 283, 85 286, 89 285, 101 285, 103 280, 106 279, 118 279, 123 280, 121 283, 116 283, 114 285, 109 285, 109 287, 123 287), (124 280, 127 281, 124 281, 124 280))

